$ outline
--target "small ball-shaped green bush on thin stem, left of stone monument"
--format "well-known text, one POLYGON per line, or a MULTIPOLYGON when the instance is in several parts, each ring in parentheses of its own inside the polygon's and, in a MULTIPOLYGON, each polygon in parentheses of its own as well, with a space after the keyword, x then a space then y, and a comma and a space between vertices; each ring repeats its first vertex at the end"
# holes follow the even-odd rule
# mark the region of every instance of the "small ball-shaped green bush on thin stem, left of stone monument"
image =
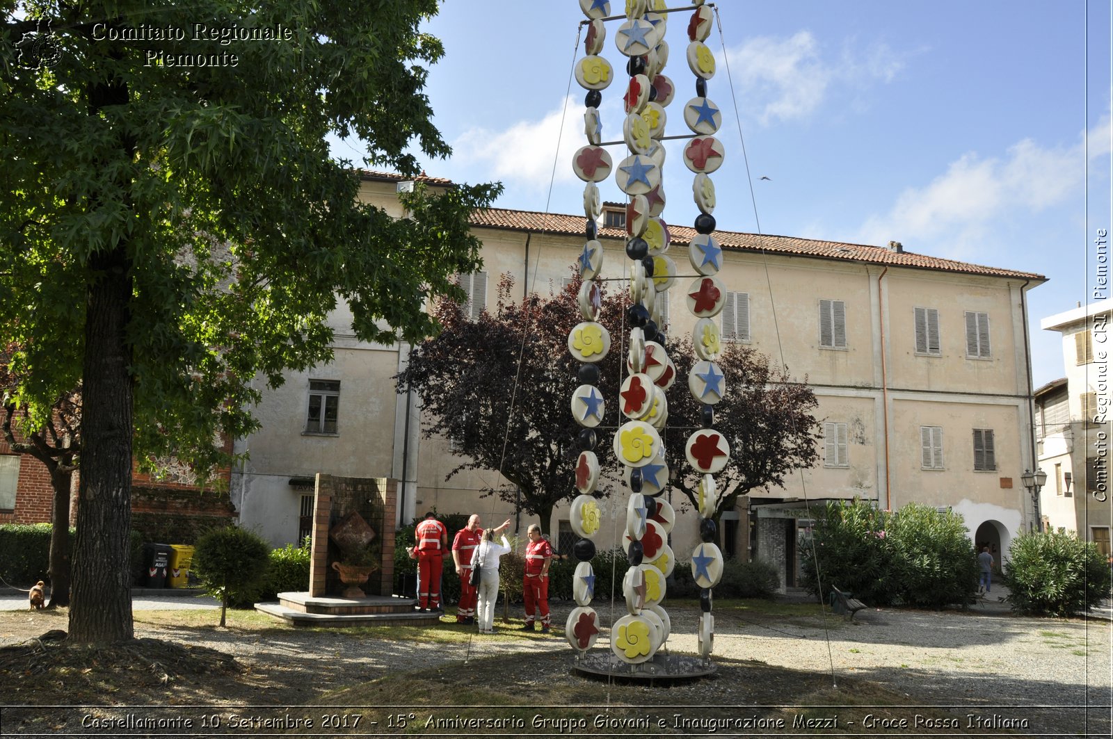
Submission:
POLYGON ((193 571, 220 599, 221 627, 230 603, 250 602, 263 591, 269 561, 270 546, 247 529, 214 529, 197 540, 193 571))

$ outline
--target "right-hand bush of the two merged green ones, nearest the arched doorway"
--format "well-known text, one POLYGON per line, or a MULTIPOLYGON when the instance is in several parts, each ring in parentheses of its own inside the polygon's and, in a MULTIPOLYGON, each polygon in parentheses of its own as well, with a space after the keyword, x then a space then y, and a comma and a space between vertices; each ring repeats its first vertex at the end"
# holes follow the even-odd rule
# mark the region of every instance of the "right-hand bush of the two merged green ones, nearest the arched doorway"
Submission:
POLYGON ((900 600, 916 608, 966 604, 977 590, 977 554, 957 513, 909 503, 889 516, 900 600))

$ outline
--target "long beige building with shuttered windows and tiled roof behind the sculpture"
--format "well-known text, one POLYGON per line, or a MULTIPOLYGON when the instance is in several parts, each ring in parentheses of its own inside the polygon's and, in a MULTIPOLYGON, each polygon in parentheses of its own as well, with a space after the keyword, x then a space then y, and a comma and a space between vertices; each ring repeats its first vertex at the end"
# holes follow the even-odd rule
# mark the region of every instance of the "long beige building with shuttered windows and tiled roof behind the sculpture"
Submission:
MULTIPOLYGON (((401 215, 400 186, 398 177, 368 174, 364 197, 401 215)), ((601 224, 605 277, 622 277, 630 264, 623 216, 609 208, 601 224)), ((523 290, 559 289, 571 276, 585 225, 582 216, 500 208, 477 213, 473 224, 484 268, 464 276, 463 285, 476 312, 493 302, 503 273, 523 290)), ((693 235, 671 227, 669 256, 686 276, 662 305, 670 335, 695 323, 684 297, 695 276, 687 256, 693 235)), ((725 249, 719 277, 732 294, 720 318, 723 333, 796 377, 807 376, 825 433, 819 466, 785 489, 757 491, 725 516, 728 553, 776 563, 791 585, 808 506, 855 496, 893 510, 910 501, 951 508, 963 514, 972 538, 1006 551, 1033 521, 1020 484, 1033 460, 1025 295, 1045 278, 917 255, 899 244, 715 236, 725 249)), ((445 481, 456 464, 450 442, 420 439, 414 398, 397 395, 391 381, 405 366, 407 348, 356 342, 345 315, 333 321, 334 362, 290 373, 258 410, 263 430, 237 444, 250 452, 233 475, 242 521, 275 543, 293 541, 312 492, 305 486, 317 471, 402 480, 401 523, 431 508, 477 511, 486 521, 513 515, 475 492, 493 485, 496 473, 445 481)), ((687 391, 681 382, 671 392, 687 391)), ((567 508, 554 514, 554 534, 567 531, 567 508)), ((679 519, 673 549, 688 559, 697 518, 688 511, 679 519)), ((569 541, 554 539, 558 545, 569 541)))

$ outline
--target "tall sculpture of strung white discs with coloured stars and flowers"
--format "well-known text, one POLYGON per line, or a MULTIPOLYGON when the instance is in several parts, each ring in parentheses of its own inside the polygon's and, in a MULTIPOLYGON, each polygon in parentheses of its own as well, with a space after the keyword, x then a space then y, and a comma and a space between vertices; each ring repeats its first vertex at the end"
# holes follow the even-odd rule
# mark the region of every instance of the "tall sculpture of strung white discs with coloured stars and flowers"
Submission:
MULTIPOLYGON (((580 658, 594 644, 599 633, 599 617, 591 608, 594 572, 590 560, 595 552, 592 538, 599 532, 602 513, 591 493, 599 480, 595 427, 603 422, 605 412, 604 400, 595 386, 600 377, 598 363, 610 352, 611 334, 599 323, 603 247, 597 238, 597 220, 602 206, 598 183, 613 174, 619 189, 628 197, 626 253, 630 263, 623 272, 630 277, 631 306, 627 312, 627 328, 621 329, 623 333, 629 331, 629 336, 623 337, 628 339, 628 372, 621 384, 618 414, 611 416, 608 425, 613 428, 614 422, 621 424, 614 433, 612 447, 623 465, 623 480, 630 490, 622 535, 630 569, 622 587, 628 612, 611 628, 611 651, 619 661, 638 666, 653 660, 669 637, 671 624, 661 601, 666 594, 666 578, 674 565, 673 552, 667 542, 676 513, 662 497, 669 469, 661 434, 668 418, 666 391, 676 380, 676 367, 664 348, 658 300, 659 294, 668 299, 667 290, 678 278, 677 265, 666 254, 671 239, 668 225, 661 218, 666 204, 661 186, 666 108, 674 97, 672 80, 663 73, 669 57, 669 45, 664 40, 669 13, 664 0, 627 0, 624 16, 614 18, 610 16, 611 3, 605 0, 579 1, 588 20, 584 23, 585 55, 575 62, 574 75, 580 86, 588 90, 583 114, 588 144, 575 152, 572 167, 587 183, 583 194, 587 227, 579 259, 583 278, 579 305, 583 322, 569 334, 568 346, 572 356, 581 362, 578 373, 581 385, 571 400, 573 417, 582 426, 575 469, 580 495, 573 501, 570 514, 572 529, 581 539, 573 548, 579 560, 573 582, 578 608, 569 615, 565 633, 580 658), (627 150, 617 167, 604 148, 610 142, 601 140, 600 117, 602 91, 615 81, 614 68, 601 56, 607 38, 604 22, 610 20, 621 22, 614 32, 614 43, 627 58, 621 98, 623 141, 615 142, 624 144, 627 150)), ((696 8, 688 23, 687 58, 696 76, 697 97, 684 106, 683 119, 695 135, 669 138, 686 140, 683 161, 696 174, 692 191, 700 210, 695 224, 697 236, 688 249, 697 277, 687 294, 689 309, 697 317, 692 343, 699 357, 688 385, 702 404, 702 428, 689 437, 687 457, 701 475, 699 531, 702 543, 692 552, 691 560, 692 573, 701 588, 703 610, 698 628, 699 651, 707 658, 713 633, 711 588, 722 572, 722 555, 713 544, 713 474, 725 466, 730 450, 726 439, 712 428, 713 406, 725 392, 722 373, 715 364, 721 347, 713 317, 722 311, 726 290, 716 277, 722 254, 711 236, 715 186, 708 174, 722 162, 722 146, 711 136, 719 128, 721 115, 707 98, 707 80, 715 73, 715 57, 703 43, 711 30, 711 9, 703 6, 702 0, 692 0, 692 4, 696 8)), ((678 13, 671 11, 673 16, 678 13)))

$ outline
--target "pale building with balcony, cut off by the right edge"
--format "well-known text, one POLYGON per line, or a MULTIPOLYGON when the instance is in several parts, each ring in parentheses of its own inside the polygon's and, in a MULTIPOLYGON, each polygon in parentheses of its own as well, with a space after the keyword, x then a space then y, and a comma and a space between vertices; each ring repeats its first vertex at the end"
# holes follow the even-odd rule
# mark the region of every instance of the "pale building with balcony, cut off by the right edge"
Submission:
POLYGON ((1080 306, 1040 322, 1063 336, 1066 376, 1035 393, 1036 450, 1047 475, 1041 513, 1053 529, 1073 531, 1106 555, 1110 549, 1109 302, 1080 306))

